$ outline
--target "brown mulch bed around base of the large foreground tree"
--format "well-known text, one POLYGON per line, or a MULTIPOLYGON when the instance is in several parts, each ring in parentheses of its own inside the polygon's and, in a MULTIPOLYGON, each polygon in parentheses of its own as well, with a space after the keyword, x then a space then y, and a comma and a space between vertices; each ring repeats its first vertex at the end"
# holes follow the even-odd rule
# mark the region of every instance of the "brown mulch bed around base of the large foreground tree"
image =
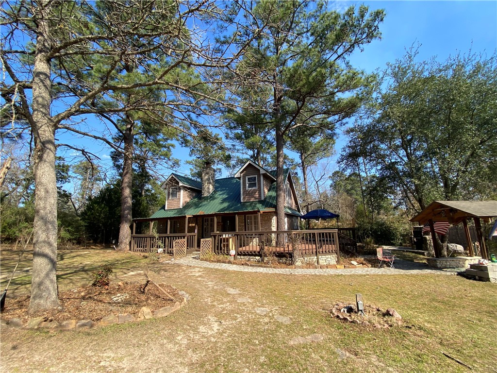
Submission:
MULTIPOLYGON (((162 289, 176 301, 181 301, 178 290, 170 285, 160 283, 162 289)), ((63 322, 65 320, 93 320, 99 321, 109 314, 129 313, 137 316, 142 307, 156 310, 174 305, 157 286, 118 282, 110 283, 106 287, 85 286, 59 293, 61 310, 49 310, 37 314, 28 314, 29 296, 9 298, 5 310, 1 313, 3 320, 14 317, 27 322, 32 317, 46 317, 49 321, 63 322)))

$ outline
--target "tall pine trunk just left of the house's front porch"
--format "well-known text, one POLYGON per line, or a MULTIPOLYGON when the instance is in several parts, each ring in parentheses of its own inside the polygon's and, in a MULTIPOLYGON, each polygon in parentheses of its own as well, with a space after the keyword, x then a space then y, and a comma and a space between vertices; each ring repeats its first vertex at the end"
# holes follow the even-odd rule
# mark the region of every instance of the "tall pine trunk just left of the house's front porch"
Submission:
POLYGON ((133 125, 131 118, 126 117, 126 128, 124 130, 124 159, 123 177, 121 185, 121 222, 119 225, 119 244, 117 250, 129 250, 131 241, 131 207, 133 187, 133 125))

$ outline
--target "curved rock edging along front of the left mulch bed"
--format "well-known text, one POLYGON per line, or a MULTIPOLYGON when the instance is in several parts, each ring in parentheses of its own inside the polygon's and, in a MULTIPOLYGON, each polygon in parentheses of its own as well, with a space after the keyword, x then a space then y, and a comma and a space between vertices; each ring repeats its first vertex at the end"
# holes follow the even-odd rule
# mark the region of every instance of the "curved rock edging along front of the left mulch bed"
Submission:
POLYGON ((174 311, 177 311, 190 299, 190 296, 182 291, 178 291, 181 295, 180 302, 175 302, 173 306, 166 306, 152 311, 148 307, 142 307, 138 312, 137 317, 129 313, 120 313, 118 315, 109 314, 98 322, 93 320, 66 320, 60 324, 57 321, 48 321, 46 317, 34 317, 29 319, 26 325, 19 318, 12 318, 8 321, 1 320, 1 327, 11 328, 26 328, 26 329, 48 329, 48 330, 71 330, 75 328, 92 328, 94 326, 107 326, 113 324, 124 324, 128 322, 141 321, 151 319, 153 317, 166 317, 174 311))

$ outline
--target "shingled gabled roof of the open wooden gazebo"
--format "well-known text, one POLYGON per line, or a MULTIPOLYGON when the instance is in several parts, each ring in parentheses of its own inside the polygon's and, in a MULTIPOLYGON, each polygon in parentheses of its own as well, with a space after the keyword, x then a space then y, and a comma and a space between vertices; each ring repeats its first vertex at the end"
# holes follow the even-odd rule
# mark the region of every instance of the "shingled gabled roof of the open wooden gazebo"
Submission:
POLYGON ((420 225, 429 219, 458 224, 468 217, 491 218, 497 216, 497 201, 433 201, 411 221, 420 225))

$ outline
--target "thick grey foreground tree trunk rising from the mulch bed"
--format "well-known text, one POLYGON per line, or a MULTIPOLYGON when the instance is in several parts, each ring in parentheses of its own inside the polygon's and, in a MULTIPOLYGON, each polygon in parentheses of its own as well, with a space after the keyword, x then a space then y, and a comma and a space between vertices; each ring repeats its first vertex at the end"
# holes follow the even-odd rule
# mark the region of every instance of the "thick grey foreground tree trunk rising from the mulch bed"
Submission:
POLYGON ((29 312, 60 307, 57 290, 57 181, 55 124, 50 116, 50 5, 38 3, 38 35, 33 67, 35 212, 33 275, 29 312))

